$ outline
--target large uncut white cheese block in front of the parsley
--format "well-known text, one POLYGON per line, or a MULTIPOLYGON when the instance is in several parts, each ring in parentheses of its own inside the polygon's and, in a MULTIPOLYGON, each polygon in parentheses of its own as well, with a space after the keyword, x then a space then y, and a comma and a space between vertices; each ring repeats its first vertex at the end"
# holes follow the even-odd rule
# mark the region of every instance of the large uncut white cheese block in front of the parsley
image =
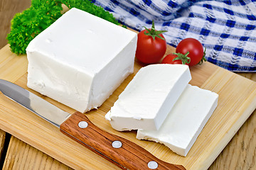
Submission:
POLYGON ((77 111, 97 108, 134 72, 137 34, 71 8, 28 45, 28 87, 77 111))

